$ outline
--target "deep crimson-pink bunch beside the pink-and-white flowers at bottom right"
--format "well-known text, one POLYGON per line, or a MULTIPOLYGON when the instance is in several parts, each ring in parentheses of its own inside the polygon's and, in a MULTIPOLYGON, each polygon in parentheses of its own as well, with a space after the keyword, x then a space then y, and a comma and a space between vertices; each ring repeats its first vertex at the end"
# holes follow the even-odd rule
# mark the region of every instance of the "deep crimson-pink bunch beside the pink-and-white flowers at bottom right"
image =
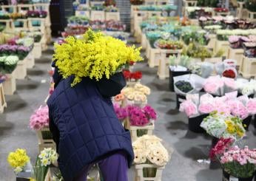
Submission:
POLYGON ((212 160, 215 160, 215 157, 219 157, 220 155, 224 154, 224 152, 232 146, 234 140, 232 138, 223 138, 220 137, 218 143, 215 145, 214 148, 210 150, 209 157, 212 160))

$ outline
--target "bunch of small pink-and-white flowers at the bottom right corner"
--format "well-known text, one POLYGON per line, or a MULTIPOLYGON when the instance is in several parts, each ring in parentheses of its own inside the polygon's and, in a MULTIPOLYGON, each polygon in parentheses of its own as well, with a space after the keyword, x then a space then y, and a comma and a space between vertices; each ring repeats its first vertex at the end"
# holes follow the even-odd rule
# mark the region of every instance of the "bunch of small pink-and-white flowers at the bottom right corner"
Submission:
POLYGON ((223 156, 220 157, 220 163, 239 163, 240 165, 246 165, 247 163, 256 164, 256 149, 249 149, 248 146, 244 148, 239 148, 234 146, 229 148, 228 151, 223 153, 223 156))

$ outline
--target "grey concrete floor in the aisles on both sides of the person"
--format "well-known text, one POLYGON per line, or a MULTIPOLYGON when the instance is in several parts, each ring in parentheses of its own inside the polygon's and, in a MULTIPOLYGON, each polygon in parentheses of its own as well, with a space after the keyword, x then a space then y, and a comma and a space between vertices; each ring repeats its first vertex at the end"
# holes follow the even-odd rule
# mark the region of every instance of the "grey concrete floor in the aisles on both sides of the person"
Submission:
MULTIPOLYGON (((16 94, 7 96, 8 107, 0 115, 0 180, 15 180, 6 161, 9 151, 26 148, 32 162, 38 154, 36 133, 28 128, 28 123, 33 110, 47 97, 50 81, 47 70, 52 55, 52 49, 44 52, 41 59, 36 60, 36 66, 28 71, 26 80, 17 81, 16 94), (47 83, 41 83, 44 80, 47 83)), ((143 72, 141 82, 152 90, 148 100, 158 112, 155 134, 164 140, 166 148, 174 150, 162 180, 221 180, 218 165, 198 163, 198 160, 207 159, 211 138, 187 131, 187 118, 175 109, 175 94, 169 92, 168 80, 159 80, 157 68, 151 69, 146 63, 136 65, 135 69, 143 72)), ((253 126, 249 129, 246 142, 256 148, 255 129, 253 126)), ((129 177, 129 180, 134 180, 133 168, 129 170, 129 177)))

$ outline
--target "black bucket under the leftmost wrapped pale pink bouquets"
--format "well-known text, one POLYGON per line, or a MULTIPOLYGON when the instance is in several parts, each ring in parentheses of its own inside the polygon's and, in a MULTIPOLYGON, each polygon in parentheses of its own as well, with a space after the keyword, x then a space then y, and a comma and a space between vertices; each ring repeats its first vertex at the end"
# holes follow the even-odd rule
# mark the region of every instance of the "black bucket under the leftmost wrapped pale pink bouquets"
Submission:
POLYGON ((200 126, 203 119, 208 115, 199 115, 189 118, 189 130, 195 133, 205 133, 205 130, 200 126))

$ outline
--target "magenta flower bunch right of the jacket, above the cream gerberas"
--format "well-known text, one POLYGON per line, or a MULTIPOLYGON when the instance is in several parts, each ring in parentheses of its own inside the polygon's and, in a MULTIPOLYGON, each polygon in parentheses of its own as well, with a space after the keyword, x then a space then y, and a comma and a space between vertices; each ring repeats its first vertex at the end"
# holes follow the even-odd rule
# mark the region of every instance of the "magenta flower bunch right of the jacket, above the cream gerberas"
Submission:
POLYGON ((146 126, 150 120, 156 119, 155 110, 151 106, 144 108, 138 106, 127 106, 129 123, 131 126, 146 126))

